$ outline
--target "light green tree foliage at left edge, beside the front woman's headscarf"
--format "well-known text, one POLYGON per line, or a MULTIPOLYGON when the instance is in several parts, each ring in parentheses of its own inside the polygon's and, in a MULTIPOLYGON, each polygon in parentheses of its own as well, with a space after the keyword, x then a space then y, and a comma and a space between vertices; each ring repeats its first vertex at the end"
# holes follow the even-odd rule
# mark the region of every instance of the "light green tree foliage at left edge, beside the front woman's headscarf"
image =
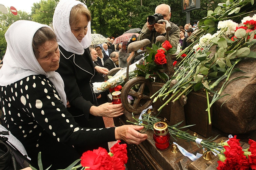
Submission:
POLYGON ((9 26, 17 20, 30 20, 30 14, 24 11, 17 11, 17 16, 14 16, 10 8, 7 8, 7 14, 0 12, 0 59, 5 55, 7 43, 5 40, 5 33, 9 26))

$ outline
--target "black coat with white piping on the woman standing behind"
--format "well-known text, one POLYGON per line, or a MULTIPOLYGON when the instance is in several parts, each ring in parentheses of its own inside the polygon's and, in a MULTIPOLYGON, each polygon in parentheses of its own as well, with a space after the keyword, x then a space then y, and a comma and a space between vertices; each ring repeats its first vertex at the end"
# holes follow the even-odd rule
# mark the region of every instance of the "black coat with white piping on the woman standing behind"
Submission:
MULTIPOLYGON (((75 121, 81 127, 104 128, 102 117, 95 117, 90 114, 90 108, 98 105, 93 88, 90 84, 94 76, 94 64, 89 49, 86 48, 83 55, 77 55, 60 48, 60 73, 65 84, 65 92, 71 104, 68 111, 73 115, 75 121)), ((99 145, 88 148, 79 148, 82 153, 86 150, 97 149, 99 145)), ((108 149, 107 143, 101 145, 108 149)))

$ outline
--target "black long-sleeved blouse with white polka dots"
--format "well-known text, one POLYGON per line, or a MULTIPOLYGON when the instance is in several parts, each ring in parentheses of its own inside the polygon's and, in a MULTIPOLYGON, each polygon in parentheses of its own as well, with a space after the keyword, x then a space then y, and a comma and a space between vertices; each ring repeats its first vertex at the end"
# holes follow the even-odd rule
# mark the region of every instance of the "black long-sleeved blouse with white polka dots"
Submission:
POLYGON ((30 75, 1 86, 2 124, 22 142, 32 163, 65 168, 80 157, 72 146, 115 140, 115 128, 81 128, 67 111, 53 83, 44 75, 30 75))

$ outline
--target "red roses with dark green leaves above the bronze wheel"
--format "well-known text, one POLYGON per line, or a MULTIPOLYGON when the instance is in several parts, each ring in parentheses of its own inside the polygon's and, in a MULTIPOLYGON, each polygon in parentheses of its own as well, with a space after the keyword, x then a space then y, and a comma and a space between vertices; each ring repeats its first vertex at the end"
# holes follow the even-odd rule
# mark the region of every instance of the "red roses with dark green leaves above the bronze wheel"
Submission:
POLYGON ((147 47, 148 53, 145 54, 144 63, 136 64, 137 70, 134 73, 137 73, 139 76, 144 76, 146 79, 154 81, 158 76, 162 80, 166 81, 168 75, 164 73, 163 64, 166 64, 166 55, 174 54, 177 50, 174 48, 169 41, 165 41, 162 44, 157 42, 152 44, 152 48, 147 47))

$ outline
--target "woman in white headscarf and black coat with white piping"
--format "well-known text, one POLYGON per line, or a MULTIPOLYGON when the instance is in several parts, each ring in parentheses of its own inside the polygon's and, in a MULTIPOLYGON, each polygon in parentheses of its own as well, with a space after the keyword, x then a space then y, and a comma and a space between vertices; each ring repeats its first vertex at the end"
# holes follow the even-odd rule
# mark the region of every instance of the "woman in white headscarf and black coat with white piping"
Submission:
MULTIPOLYGON (((77 0, 61 0, 53 15, 53 28, 60 40, 60 67, 65 92, 71 104, 68 111, 82 127, 104 128, 104 117, 123 114, 122 104, 104 103, 98 106, 90 84, 95 71, 107 74, 108 69, 93 64, 89 46, 91 44, 91 14, 86 5, 77 0)), ((108 150, 108 145, 100 145, 108 150)), ((92 150, 99 145, 78 148, 92 150)))

